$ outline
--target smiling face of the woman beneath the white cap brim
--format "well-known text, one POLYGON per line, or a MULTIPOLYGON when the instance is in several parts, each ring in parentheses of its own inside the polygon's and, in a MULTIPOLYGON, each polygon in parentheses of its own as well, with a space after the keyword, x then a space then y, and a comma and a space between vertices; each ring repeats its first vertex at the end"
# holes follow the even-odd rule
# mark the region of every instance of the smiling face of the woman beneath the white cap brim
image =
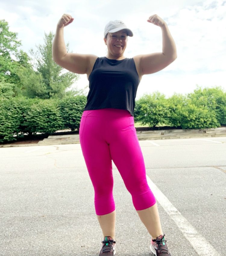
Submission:
POLYGON ((108 33, 107 38, 104 38, 104 41, 108 46, 108 54, 115 57, 122 56, 127 46, 126 30, 108 33))

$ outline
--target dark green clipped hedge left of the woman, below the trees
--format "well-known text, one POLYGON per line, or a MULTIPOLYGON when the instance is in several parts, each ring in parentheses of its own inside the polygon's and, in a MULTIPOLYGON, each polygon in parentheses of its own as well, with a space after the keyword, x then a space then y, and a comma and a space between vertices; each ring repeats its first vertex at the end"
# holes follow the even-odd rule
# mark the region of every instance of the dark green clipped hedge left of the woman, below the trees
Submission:
POLYGON ((61 129, 79 129, 85 105, 85 96, 62 100, 0 98, 0 142, 13 141, 24 134, 49 135, 61 129))

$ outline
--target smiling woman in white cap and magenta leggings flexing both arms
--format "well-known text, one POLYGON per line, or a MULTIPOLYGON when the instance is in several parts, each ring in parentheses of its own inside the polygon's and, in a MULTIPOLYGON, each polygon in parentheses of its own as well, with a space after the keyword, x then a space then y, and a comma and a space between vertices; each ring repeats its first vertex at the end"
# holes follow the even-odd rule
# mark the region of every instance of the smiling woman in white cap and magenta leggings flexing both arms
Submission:
POLYGON ((64 14, 57 24, 53 59, 63 68, 87 74, 89 93, 80 122, 80 143, 95 191, 95 210, 104 240, 100 256, 115 255, 115 203, 112 160, 117 166, 141 221, 152 236, 151 255, 170 256, 155 197, 146 180, 143 155, 134 128, 138 84, 144 74, 157 72, 177 58, 169 29, 159 16, 147 20, 162 29, 162 52, 126 58, 127 37, 122 21, 110 21, 104 31, 106 57, 67 53, 63 30, 74 18, 64 14))

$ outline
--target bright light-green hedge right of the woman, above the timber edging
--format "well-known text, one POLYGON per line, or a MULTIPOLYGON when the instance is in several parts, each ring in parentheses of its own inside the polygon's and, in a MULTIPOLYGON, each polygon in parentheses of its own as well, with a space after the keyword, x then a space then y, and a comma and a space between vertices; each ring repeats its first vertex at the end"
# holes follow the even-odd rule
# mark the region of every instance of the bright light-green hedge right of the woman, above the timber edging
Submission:
POLYGON ((145 94, 136 101, 134 118, 150 127, 220 127, 226 124, 226 93, 221 87, 197 87, 186 96, 175 93, 168 99, 159 92, 145 94))

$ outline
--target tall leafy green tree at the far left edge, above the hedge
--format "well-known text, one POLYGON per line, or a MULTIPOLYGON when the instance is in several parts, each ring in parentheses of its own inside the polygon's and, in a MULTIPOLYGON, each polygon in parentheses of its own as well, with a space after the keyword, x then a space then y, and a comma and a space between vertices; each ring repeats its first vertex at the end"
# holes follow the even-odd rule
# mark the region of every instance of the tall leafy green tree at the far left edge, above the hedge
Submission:
MULTIPOLYGON (((0 21, 0 97, 23 95, 24 81, 31 80, 37 84, 40 79, 35 76, 27 53, 19 50, 21 42, 17 33, 9 31, 8 22, 0 21)), ((33 84, 30 81, 30 84, 33 84)), ((41 81, 42 83, 42 81, 41 81)), ((24 93, 26 95, 27 93, 24 93)))

